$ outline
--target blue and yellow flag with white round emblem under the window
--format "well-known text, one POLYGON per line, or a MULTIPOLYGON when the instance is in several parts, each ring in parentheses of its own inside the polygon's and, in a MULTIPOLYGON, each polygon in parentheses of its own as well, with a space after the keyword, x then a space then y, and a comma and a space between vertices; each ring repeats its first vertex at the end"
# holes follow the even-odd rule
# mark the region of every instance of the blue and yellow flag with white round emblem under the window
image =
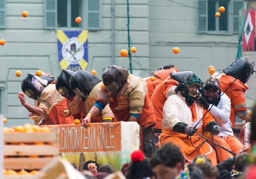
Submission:
POLYGON ((88 65, 88 31, 57 30, 61 69, 85 70, 88 65))

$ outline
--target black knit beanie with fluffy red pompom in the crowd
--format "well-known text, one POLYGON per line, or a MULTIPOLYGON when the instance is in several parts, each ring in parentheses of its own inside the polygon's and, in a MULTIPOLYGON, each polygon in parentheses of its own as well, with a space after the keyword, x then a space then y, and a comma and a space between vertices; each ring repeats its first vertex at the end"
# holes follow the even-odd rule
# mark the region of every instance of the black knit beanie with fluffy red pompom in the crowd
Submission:
POLYGON ((130 178, 132 179, 143 179, 146 177, 152 177, 153 172, 150 164, 142 151, 134 151, 131 154, 131 167, 130 167, 130 178))

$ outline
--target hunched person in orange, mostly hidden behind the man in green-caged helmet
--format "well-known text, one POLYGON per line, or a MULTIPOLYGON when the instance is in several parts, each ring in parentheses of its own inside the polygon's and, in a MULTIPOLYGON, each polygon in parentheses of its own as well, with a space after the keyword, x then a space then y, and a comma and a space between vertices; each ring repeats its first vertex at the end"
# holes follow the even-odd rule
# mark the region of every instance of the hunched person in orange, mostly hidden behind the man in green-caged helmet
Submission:
POLYGON ((148 95, 151 100, 152 94, 158 84, 163 82, 166 78, 170 77, 170 73, 178 72, 178 69, 174 65, 166 65, 158 70, 152 71, 152 75, 155 77, 155 80, 152 81, 150 77, 143 78, 147 83, 148 95))

